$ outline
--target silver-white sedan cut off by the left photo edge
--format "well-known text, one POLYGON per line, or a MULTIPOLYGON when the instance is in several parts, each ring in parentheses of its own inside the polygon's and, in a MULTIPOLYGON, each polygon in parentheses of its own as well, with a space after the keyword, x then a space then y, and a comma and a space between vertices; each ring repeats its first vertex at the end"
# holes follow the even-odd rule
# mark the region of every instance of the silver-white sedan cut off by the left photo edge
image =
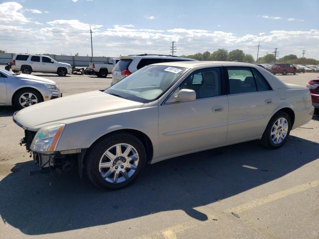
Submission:
POLYGON ((61 96, 54 81, 0 68, 0 106, 22 109, 61 96))

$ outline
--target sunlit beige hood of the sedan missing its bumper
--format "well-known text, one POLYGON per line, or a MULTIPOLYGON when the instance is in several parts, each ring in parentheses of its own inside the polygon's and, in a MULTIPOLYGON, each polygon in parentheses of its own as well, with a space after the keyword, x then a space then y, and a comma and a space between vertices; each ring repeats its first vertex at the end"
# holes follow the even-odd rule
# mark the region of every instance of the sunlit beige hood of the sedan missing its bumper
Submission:
POLYGON ((91 91, 42 102, 15 113, 20 126, 36 131, 53 123, 70 123, 142 107, 144 104, 91 91))

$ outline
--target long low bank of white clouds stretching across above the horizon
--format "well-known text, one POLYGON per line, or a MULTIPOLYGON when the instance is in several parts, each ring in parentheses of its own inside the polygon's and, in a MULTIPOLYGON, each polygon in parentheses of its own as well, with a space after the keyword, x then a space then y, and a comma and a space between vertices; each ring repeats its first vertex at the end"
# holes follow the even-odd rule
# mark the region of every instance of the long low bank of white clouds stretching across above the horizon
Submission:
MULTIPOLYGON (((1 15, 0 15, 1 16, 1 15)), ((33 22, 34 23, 34 22, 33 22)), ((29 24, 32 24, 31 22, 29 24)), ((105 28, 103 25, 91 25, 93 31, 93 50, 96 56, 117 56, 136 53, 168 54, 171 41, 176 41, 177 55, 190 55, 206 50, 212 52, 218 48, 233 50, 242 49, 256 57, 256 45, 260 40, 260 56, 278 47, 281 56, 288 54, 301 55, 307 48, 307 57, 318 59, 319 29, 304 31, 274 30, 255 34, 238 35, 225 31, 205 29, 143 29, 133 24, 114 25, 105 28)), ((80 55, 90 53, 89 24, 77 19, 54 20, 46 25, 34 24, 32 27, 17 24, 0 25, 1 45, 7 45, 8 52, 25 52, 28 46, 32 53, 80 55), (23 34, 21 34, 23 33, 23 34), (36 33, 36 34, 35 34, 36 33), (21 42, 24 44, 21 44, 21 42), (36 42, 37 44, 33 44, 36 42)))

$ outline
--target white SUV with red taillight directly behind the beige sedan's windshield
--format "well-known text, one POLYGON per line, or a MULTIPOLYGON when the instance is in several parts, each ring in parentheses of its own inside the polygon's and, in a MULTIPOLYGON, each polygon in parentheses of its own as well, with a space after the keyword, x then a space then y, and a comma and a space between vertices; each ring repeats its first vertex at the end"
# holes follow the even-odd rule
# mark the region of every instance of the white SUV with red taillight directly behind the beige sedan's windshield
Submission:
POLYGON ((112 70, 112 83, 118 83, 123 78, 131 75, 133 72, 141 69, 142 67, 164 62, 176 62, 176 61, 196 61, 190 58, 182 58, 171 55, 155 55, 155 54, 139 54, 120 56, 120 61, 114 66, 112 70))

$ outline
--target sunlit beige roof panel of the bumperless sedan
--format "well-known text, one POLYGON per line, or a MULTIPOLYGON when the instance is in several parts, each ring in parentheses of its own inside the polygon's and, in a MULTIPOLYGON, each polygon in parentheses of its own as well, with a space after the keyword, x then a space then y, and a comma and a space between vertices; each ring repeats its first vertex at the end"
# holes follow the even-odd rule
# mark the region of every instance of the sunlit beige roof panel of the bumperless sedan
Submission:
POLYGON ((255 66, 254 64, 250 63, 243 63, 243 62, 231 62, 231 61, 177 61, 177 62, 164 62, 164 63, 156 63, 153 65, 157 66, 177 66, 177 67, 184 67, 184 68, 194 68, 197 66, 217 66, 217 65, 225 65, 225 66, 255 66))

